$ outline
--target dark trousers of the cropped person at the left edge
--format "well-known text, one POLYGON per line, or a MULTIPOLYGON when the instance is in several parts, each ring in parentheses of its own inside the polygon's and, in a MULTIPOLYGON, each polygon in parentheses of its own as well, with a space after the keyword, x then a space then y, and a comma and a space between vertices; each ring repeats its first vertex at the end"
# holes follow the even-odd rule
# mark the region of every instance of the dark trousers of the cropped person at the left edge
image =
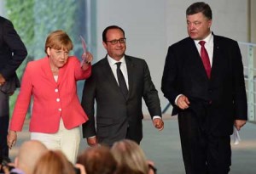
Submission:
POLYGON ((3 158, 9 158, 7 134, 9 127, 9 94, 0 91, 0 150, 3 158))

